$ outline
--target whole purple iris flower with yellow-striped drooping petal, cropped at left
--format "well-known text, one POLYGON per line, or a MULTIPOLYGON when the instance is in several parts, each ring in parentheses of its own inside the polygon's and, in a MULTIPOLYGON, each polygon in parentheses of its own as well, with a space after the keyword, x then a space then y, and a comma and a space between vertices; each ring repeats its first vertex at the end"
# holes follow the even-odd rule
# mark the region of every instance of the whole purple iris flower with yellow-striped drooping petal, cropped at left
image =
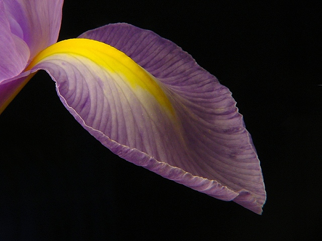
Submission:
POLYGON ((0 112, 38 71, 121 158, 262 213, 260 162, 230 91, 173 42, 110 24, 56 43, 63 0, 0 0, 0 112))

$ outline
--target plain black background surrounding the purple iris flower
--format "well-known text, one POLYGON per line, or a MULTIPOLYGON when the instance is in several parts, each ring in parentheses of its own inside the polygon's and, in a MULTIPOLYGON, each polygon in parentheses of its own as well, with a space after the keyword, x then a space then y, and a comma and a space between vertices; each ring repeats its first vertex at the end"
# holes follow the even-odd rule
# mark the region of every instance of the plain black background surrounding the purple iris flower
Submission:
MULTIPOLYGON (((286 1, 288 2, 288 1, 286 1)), ((111 154, 39 72, 0 115, 0 240, 301 240, 321 218, 321 4, 68 1, 59 40, 126 22, 227 86, 257 148, 263 215, 111 154)))

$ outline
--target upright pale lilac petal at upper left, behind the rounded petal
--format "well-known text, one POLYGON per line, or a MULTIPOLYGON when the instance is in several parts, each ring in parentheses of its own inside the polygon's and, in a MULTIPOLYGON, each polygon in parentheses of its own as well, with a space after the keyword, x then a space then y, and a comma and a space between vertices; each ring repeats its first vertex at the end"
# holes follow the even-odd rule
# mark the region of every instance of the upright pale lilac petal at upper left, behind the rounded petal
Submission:
POLYGON ((12 32, 23 39, 33 58, 57 42, 63 0, 5 0, 12 32))

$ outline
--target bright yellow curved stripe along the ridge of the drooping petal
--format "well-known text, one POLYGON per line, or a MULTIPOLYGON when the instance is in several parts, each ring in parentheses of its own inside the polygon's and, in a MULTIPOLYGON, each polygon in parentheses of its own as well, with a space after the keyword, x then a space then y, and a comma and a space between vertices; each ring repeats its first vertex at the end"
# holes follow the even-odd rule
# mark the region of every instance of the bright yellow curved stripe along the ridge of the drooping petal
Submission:
POLYGON ((166 107, 174 115, 174 109, 170 100, 154 77, 116 48, 91 39, 68 39, 53 44, 41 51, 30 63, 27 70, 32 69, 46 57, 55 54, 84 56, 109 72, 125 76, 133 89, 139 86, 147 90, 158 103, 166 107))

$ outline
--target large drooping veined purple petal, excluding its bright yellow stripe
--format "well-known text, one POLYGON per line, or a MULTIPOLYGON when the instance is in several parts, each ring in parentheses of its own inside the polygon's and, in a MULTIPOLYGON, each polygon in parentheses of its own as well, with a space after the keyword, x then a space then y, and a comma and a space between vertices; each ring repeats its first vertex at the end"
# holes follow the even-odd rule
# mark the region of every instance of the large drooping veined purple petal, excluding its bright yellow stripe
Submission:
MULTIPOLYGON (((69 54, 54 53, 33 71, 42 68, 52 76, 61 101, 86 130, 136 165, 262 212, 266 193, 259 160, 226 87, 153 32, 115 24, 81 37, 106 42, 130 56, 156 77, 151 76, 156 88, 166 96, 158 101, 150 89, 129 84, 125 72, 70 54, 70 49, 69 54), (167 101, 171 107, 162 104, 167 101)), ((107 65, 118 61, 106 56, 107 65)))

